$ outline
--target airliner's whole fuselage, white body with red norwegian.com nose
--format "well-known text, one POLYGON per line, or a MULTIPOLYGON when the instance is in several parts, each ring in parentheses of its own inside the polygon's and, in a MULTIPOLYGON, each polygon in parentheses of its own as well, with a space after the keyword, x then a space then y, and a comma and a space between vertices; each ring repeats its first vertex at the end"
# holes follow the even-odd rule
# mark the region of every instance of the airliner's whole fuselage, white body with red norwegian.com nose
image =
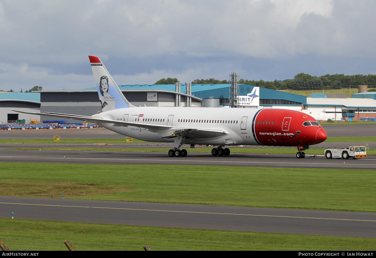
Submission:
POLYGON ((286 109, 132 107, 93 117, 126 121, 127 126, 98 124, 139 140, 174 142, 175 147, 179 144, 304 147, 321 143, 327 137, 313 117, 286 109))

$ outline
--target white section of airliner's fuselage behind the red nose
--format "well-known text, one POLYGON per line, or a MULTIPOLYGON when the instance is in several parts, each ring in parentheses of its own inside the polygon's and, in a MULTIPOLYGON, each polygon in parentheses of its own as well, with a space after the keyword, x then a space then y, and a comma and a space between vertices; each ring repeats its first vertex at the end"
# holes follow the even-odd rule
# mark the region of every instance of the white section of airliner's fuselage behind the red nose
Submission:
MULTIPOLYGON (((252 135, 252 119, 260 109, 250 108, 187 108, 187 107, 133 107, 115 109, 93 115, 118 121, 176 127, 223 130, 226 134, 216 138, 192 139, 189 144, 211 145, 257 145, 252 135), (247 117, 245 129, 241 120, 247 117)), ((163 138, 157 132, 135 126, 101 126, 128 137, 152 142, 174 142, 174 138, 163 138)))

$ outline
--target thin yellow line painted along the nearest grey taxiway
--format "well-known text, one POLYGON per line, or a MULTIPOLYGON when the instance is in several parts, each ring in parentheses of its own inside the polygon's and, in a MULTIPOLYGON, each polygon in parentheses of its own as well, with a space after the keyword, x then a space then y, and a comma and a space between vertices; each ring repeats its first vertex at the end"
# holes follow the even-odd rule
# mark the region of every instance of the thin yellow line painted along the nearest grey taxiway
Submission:
POLYGON ((110 207, 70 206, 70 205, 49 205, 49 204, 11 203, 11 202, 0 202, 0 204, 36 205, 36 206, 55 206, 55 207, 73 207, 73 208, 96 208, 96 209, 122 209, 122 210, 132 210, 132 211, 182 212, 182 213, 196 213, 196 214, 217 214, 217 215, 255 216, 255 217, 277 217, 277 218, 292 218, 292 219, 319 219, 319 220, 346 220, 346 221, 376 222, 376 220, 332 219, 332 218, 296 217, 296 216, 277 216, 277 215, 256 215, 256 214, 219 213, 219 212, 200 212, 200 211, 168 211, 168 210, 159 210, 159 209, 130 209, 130 208, 110 208, 110 207))

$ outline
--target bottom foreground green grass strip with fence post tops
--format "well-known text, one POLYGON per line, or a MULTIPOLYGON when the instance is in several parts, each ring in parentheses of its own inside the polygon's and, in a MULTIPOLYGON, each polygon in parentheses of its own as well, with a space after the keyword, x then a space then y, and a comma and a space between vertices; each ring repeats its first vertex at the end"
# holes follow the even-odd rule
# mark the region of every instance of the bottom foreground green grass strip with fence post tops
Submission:
POLYGON ((68 250, 375 250, 376 239, 205 229, 0 219, 11 251, 68 250))

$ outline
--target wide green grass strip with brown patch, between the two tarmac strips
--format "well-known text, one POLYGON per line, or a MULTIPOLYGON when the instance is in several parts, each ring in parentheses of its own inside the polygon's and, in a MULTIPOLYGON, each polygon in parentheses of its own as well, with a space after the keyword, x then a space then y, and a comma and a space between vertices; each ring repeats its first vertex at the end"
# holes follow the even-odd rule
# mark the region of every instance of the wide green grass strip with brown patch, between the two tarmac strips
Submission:
POLYGON ((373 170, 0 164, 4 196, 376 212, 373 170))

